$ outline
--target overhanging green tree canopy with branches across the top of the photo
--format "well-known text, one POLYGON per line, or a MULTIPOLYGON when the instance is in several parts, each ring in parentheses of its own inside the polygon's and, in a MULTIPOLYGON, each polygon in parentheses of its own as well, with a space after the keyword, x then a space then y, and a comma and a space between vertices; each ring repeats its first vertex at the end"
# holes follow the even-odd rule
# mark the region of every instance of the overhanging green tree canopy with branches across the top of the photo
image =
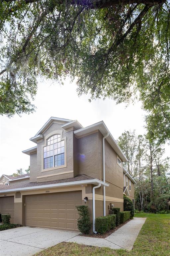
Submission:
POLYGON ((2 0, 0 113, 31 113, 37 77, 79 95, 138 99, 150 137, 170 138, 168 0, 2 0))

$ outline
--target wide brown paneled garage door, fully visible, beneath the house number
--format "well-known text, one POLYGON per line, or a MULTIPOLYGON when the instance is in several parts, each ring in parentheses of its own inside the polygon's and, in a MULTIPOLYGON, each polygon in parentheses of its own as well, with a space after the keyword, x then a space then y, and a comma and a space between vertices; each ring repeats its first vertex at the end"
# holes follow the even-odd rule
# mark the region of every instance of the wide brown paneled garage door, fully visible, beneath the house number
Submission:
POLYGON ((26 196, 26 226, 78 230, 77 205, 81 191, 26 196))

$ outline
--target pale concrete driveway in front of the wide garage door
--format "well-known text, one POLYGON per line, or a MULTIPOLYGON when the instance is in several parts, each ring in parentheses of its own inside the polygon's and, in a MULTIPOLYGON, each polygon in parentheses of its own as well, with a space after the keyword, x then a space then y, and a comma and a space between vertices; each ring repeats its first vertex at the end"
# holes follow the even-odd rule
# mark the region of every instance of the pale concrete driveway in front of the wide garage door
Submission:
POLYGON ((79 235, 79 232, 20 227, 0 232, 0 255, 31 256, 79 235))

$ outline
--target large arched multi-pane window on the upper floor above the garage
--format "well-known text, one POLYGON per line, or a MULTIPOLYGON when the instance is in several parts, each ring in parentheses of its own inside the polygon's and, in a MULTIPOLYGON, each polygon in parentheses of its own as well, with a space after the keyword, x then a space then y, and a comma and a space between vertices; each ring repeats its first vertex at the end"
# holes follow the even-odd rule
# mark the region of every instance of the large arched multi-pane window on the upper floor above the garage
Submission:
POLYGON ((64 165, 64 140, 61 140, 60 134, 56 134, 47 139, 43 147, 43 168, 60 165, 64 165))

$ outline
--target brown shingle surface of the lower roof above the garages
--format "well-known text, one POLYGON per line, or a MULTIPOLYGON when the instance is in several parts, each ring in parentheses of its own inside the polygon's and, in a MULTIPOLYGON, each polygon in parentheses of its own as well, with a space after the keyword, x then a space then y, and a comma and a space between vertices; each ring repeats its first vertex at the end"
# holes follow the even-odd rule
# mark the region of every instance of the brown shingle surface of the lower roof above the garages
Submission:
POLYGON ((51 185, 51 184, 60 184, 60 183, 65 183, 65 182, 73 182, 73 181, 82 181, 82 180, 92 180, 94 178, 87 176, 85 174, 82 175, 77 175, 74 178, 68 178, 68 179, 63 179, 63 180, 53 180, 53 181, 46 181, 46 182, 20 182, 16 185, 10 185, 5 188, 0 188, 1 190, 9 190, 9 189, 18 189, 18 188, 27 188, 27 187, 35 187, 35 186, 42 186, 42 185, 51 185))

